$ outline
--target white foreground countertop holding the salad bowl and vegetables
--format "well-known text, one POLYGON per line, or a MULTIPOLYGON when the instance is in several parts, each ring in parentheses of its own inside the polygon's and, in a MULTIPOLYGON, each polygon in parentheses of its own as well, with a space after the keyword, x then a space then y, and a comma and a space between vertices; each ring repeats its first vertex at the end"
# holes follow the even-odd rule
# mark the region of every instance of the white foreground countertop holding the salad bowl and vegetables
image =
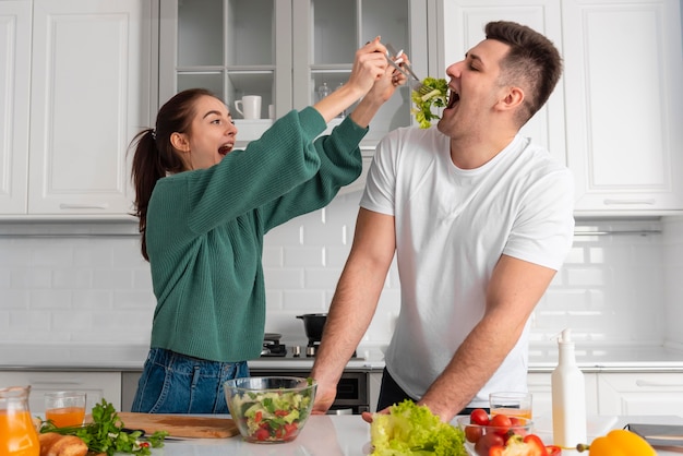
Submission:
MULTIPOLYGON (((594 417, 597 418, 597 417, 594 417)), ((626 423, 668 423, 683 424, 681 417, 602 417, 595 420, 607 423, 602 428, 595 427, 594 433, 588 432, 588 440, 604 435, 610 429, 623 428, 626 423)), ((537 434, 550 444, 552 435, 543 432, 537 434)), ((197 439, 184 441, 167 441, 164 448, 156 448, 153 455, 163 456, 359 456, 370 454, 370 425, 357 415, 350 416, 312 416, 299 436, 289 443, 253 444, 236 436, 231 439, 197 439)), ((660 456, 673 456, 673 453, 658 449, 660 456)), ((579 455, 576 451, 564 451, 563 455, 579 455)), ((586 453, 583 453, 586 455, 586 453)))

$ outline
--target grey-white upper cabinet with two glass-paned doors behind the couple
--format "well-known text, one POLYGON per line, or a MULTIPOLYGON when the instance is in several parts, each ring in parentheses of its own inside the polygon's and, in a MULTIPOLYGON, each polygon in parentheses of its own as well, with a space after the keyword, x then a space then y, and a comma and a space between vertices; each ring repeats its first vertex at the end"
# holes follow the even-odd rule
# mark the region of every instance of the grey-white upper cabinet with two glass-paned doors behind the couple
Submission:
MULTIPOLYGON (((356 50, 375 36, 404 49, 427 76, 427 0, 169 0, 160 4, 159 104, 184 88, 223 98, 243 146, 274 118, 319 99, 347 81, 356 50), (259 119, 235 101, 261 97, 259 119), (269 109, 272 106, 272 109, 269 109)), ((443 76, 439 74, 438 76, 443 76)), ((334 125, 338 121, 331 122, 334 125)), ((400 89, 375 116, 364 145, 411 123, 410 93, 400 89)))

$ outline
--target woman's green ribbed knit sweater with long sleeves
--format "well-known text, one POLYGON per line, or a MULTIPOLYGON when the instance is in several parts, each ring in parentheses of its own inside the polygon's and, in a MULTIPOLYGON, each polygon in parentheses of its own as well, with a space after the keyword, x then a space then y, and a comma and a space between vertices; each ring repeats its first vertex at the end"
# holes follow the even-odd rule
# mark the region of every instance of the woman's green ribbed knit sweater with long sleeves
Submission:
POLYGON ((218 165, 156 183, 146 230, 153 348, 225 362, 260 356, 263 236, 360 176, 368 129, 347 118, 315 139, 325 128, 313 108, 291 111, 218 165))

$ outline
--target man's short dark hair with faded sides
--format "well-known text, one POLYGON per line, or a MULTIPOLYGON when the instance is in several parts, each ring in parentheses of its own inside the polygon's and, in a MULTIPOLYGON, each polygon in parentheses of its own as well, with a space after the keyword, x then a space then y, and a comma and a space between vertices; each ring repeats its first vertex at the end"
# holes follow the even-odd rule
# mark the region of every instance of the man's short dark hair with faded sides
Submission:
POLYGON ((562 75, 562 57, 552 41, 540 33, 515 22, 496 21, 486 26, 487 39, 510 46, 501 62, 506 84, 527 88, 526 109, 520 124, 526 123, 544 104, 562 75))

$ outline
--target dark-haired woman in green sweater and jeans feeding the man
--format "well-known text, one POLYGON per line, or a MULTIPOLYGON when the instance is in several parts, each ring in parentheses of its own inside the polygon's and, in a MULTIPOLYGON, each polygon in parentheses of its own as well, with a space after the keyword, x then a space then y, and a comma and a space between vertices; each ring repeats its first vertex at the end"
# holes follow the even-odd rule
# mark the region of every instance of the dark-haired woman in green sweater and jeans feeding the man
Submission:
POLYGON ((133 158, 142 254, 157 305, 133 411, 227 413, 226 380, 248 376, 265 324, 263 236, 319 209, 361 171, 359 142, 405 77, 379 38, 356 52, 348 82, 291 111, 243 151, 225 104, 177 94, 133 158), (362 98, 328 136, 326 123, 362 98))

